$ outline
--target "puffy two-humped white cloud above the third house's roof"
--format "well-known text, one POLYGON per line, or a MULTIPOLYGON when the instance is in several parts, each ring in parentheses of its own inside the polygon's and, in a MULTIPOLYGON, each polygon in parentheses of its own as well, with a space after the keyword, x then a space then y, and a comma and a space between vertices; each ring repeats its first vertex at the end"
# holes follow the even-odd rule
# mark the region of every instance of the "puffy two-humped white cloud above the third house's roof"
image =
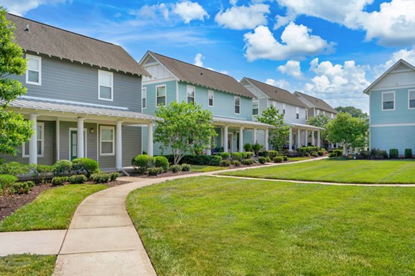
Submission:
POLYGON ((303 59, 324 52, 332 52, 334 43, 327 43, 319 36, 312 35, 311 29, 304 25, 296 25, 291 22, 286 26, 281 35, 281 41, 277 41, 269 28, 258 26, 254 32, 244 35, 246 42, 246 58, 248 61, 256 59, 303 59))

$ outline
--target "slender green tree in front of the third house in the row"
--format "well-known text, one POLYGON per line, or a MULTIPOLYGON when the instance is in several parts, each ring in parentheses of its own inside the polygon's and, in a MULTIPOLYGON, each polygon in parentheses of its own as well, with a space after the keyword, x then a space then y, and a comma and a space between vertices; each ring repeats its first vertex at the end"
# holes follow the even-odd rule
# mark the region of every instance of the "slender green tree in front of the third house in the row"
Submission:
POLYGON ((263 124, 269 124, 275 127, 268 132, 268 141, 274 149, 282 149, 284 144, 288 143, 290 128, 284 125, 284 114, 279 113, 279 110, 275 106, 271 105, 261 115, 257 115, 256 118, 263 124))

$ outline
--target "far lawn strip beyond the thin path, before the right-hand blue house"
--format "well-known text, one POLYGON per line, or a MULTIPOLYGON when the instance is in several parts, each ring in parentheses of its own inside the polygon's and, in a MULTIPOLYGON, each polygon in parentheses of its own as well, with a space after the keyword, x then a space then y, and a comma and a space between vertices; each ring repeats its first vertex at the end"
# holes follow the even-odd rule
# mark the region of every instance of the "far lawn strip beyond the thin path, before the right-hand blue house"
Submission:
POLYGON ((221 172, 223 175, 369 184, 415 184, 414 160, 323 159, 252 170, 221 172))

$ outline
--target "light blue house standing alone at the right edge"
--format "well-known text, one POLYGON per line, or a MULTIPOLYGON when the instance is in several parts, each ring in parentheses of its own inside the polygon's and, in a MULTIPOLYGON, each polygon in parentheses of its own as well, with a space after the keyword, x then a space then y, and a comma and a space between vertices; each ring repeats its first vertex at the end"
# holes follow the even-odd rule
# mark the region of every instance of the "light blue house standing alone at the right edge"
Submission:
POLYGON ((400 59, 364 91, 369 95, 370 148, 415 150, 415 67, 400 59))

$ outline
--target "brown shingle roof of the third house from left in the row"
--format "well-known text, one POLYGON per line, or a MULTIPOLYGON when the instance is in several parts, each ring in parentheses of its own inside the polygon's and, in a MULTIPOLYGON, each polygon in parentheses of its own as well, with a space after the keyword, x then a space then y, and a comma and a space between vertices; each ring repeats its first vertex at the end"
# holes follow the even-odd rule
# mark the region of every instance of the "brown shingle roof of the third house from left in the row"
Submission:
POLYGON ((252 83, 253 86, 256 86, 259 90, 264 92, 265 95, 270 97, 270 99, 273 99, 275 101, 280 101, 282 103, 288 103, 293 106, 299 106, 302 108, 306 108, 304 103, 297 99, 291 92, 284 90, 282 88, 277 88, 275 86, 270 86, 267 83, 263 83, 261 81, 257 81, 255 79, 250 79, 248 77, 243 77, 246 81, 252 83))

